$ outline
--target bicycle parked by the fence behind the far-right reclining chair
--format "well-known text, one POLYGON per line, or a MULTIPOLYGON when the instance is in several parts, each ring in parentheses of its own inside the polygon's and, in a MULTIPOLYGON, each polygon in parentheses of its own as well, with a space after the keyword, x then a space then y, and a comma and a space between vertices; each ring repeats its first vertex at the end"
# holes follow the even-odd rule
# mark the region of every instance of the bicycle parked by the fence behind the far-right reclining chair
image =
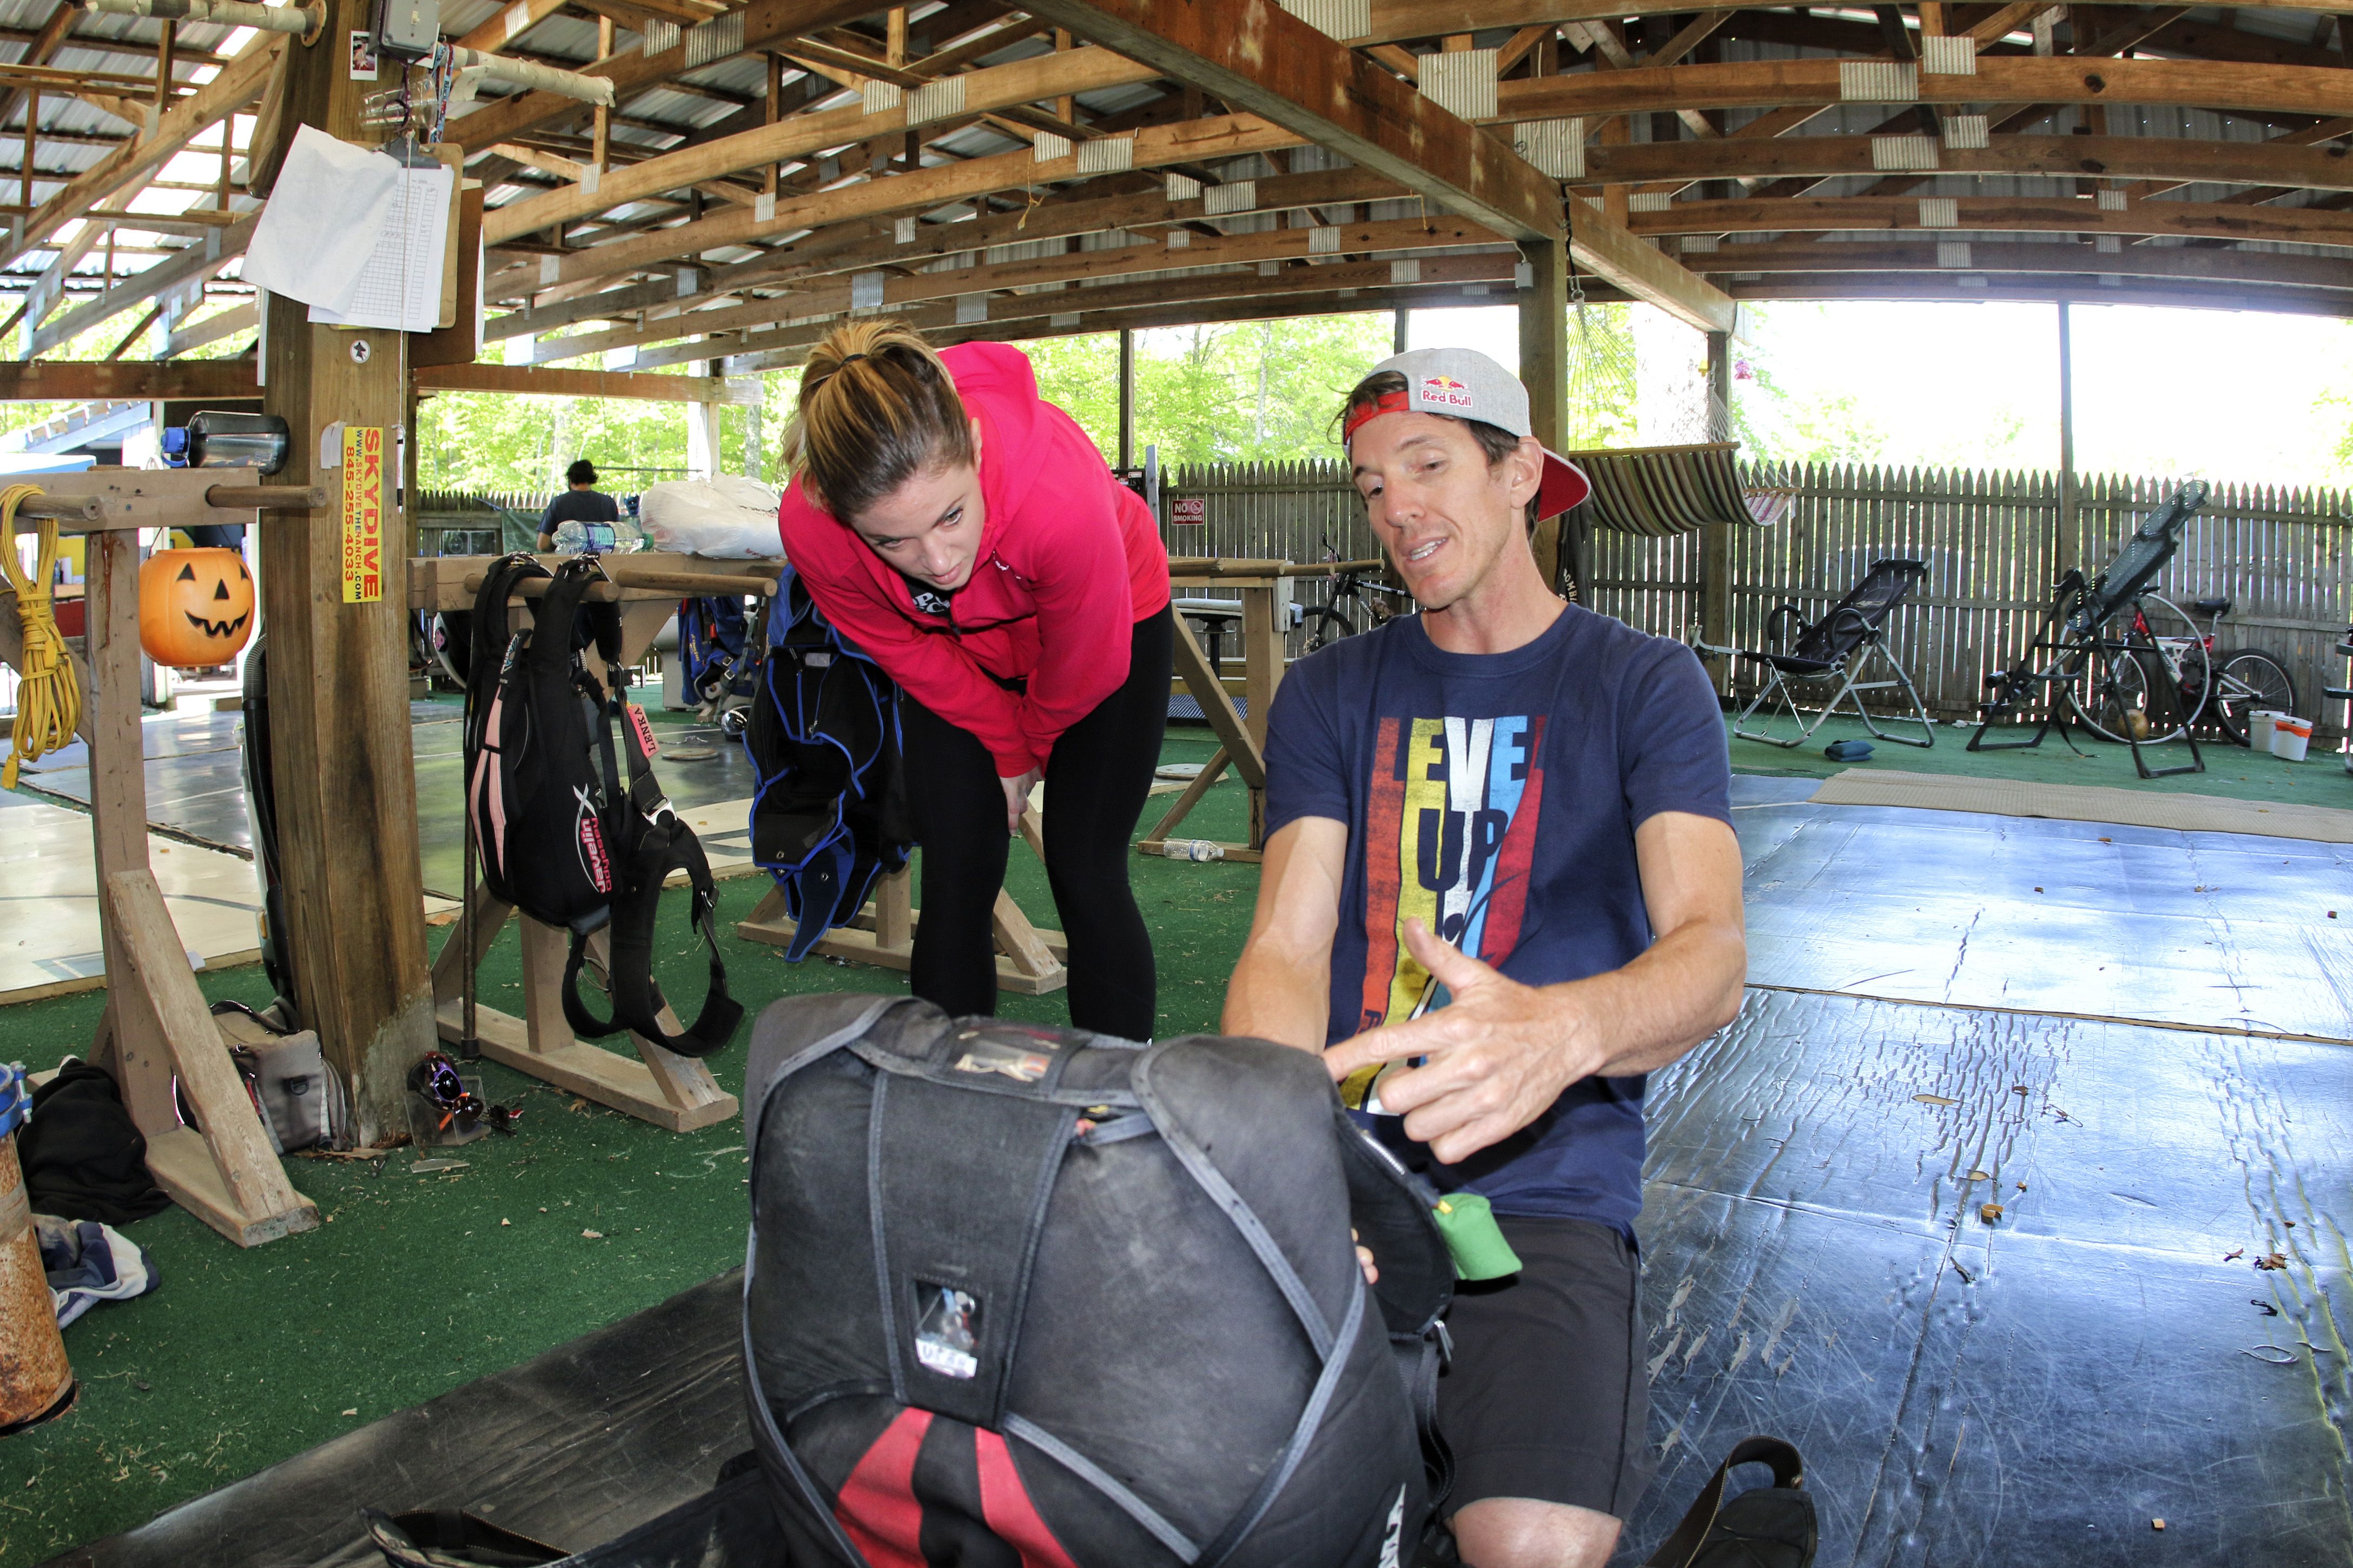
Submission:
POLYGON ((2191 599, 2188 609, 2165 595, 2141 592, 2129 602, 2122 637, 2099 637, 2066 682, 2068 708, 2094 736, 2115 743, 2174 741, 2184 729, 2209 719, 2233 743, 2247 743, 2249 715, 2257 710, 2294 712, 2297 682, 2278 658, 2259 649, 2217 649, 2217 632, 2231 614, 2228 597, 2191 599), (2165 625, 2158 630, 2148 611, 2155 607, 2165 625), (2198 616, 2207 618, 2205 630, 2198 616), (2174 724, 2162 736, 2148 724, 2153 682, 2169 682, 2174 724), (2134 731, 2134 733, 2127 733, 2134 731))

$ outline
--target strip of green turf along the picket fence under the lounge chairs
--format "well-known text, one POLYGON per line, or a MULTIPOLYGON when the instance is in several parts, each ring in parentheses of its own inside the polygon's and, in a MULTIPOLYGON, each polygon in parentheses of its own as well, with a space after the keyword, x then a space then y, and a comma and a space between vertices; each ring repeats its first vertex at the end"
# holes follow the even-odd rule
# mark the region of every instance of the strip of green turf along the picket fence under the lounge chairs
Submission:
MULTIPOLYGON (((1729 733, 1729 719, 1725 722, 1729 733)), ((1755 729, 1755 724, 1751 724, 1755 729)), ((1918 724, 1894 726, 1880 719, 1880 729, 1892 736, 1918 736, 1918 724)), ((2141 778, 2132 771, 2132 748, 2097 741, 2075 731, 2075 750, 2059 736, 2049 736, 2035 750, 1972 752, 1974 726, 1939 724, 1937 745, 1892 745, 1873 741, 1866 762, 1831 762, 1821 755, 1833 741, 1871 741, 1857 719, 1831 719, 1814 731, 1814 738, 1798 748, 1767 745, 1762 741, 1729 741, 1732 771, 1737 773, 1784 773, 1800 778, 1828 778, 1842 769, 1887 769, 1901 773, 1955 773, 1962 778, 2019 778, 2028 783, 2115 785, 2129 790, 2165 790, 2169 795, 2226 795, 2231 799, 2294 802, 2299 806, 2353 809, 2353 776, 2346 776, 2341 755, 2313 752, 2304 762, 2280 762, 2271 752, 2249 752, 2245 745, 2207 743, 2205 773, 2179 773, 2174 778, 2141 778)), ((1784 715, 1774 733, 1793 736, 1798 726, 1784 715)), ((2019 731, 2024 738, 2033 731, 2019 731)), ((2181 743, 2141 748, 2148 766, 2167 769, 2188 762, 2181 743)))

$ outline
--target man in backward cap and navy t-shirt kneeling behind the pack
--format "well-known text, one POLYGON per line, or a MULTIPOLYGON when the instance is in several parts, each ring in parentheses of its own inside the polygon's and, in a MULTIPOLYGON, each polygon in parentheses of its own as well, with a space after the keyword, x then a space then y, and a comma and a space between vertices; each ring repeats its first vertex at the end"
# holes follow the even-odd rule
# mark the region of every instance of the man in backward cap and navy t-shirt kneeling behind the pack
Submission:
POLYGON ((1395 355, 1341 430, 1424 609, 1275 696, 1224 1027, 1322 1048, 1409 1166, 1494 1204, 1522 1267, 1461 1286, 1438 1387, 1461 1561, 1598 1566, 1649 1479, 1642 1074, 1729 1023, 1746 973, 1722 717, 1689 649, 1537 571, 1527 520, 1586 477, 1504 367, 1395 355))

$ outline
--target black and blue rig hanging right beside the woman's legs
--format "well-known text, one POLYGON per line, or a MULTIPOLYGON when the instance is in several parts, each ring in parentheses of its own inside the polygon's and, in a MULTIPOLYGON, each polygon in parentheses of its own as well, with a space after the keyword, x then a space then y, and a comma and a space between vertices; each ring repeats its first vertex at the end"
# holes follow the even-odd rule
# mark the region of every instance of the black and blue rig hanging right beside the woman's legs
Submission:
POLYGON ((793 917, 784 957, 856 919, 875 877, 915 844, 899 752, 899 686, 833 630, 786 567, 769 611, 767 658, 744 733, 758 783, 751 858, 793 917))

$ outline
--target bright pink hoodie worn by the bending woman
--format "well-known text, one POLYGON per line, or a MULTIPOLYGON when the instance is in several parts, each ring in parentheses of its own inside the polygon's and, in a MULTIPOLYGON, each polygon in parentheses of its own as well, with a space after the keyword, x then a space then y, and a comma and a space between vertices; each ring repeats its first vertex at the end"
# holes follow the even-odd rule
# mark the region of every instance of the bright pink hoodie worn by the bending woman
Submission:
POLYGON ((1028 355, 960 343, 939 357, 981 421, 988 508, 948 623, 915 609, 908 578, 812 505, 800 480, 776 529, 835 630, 918 703, 972 731, 1012 778, 1045 766, 1061 731, 1127 679, 1129 628, 1169 602, 1169 557, 1151 510, 1111 477, 1078 421, 1038 397, 1028 355))

